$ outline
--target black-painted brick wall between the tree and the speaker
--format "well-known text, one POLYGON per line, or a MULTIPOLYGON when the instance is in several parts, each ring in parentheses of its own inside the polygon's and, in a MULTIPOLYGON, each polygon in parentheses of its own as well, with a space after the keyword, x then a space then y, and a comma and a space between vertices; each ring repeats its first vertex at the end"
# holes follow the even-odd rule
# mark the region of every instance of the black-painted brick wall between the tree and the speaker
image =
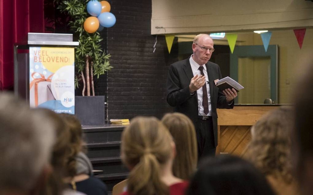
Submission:
POLYGON ((166 102, 166 78, 168 66, 177 61, 177 39, 168 54, 164 36, 158 36, 153 53, 151 1, 109 2, 116 24, 107 29, 106 48, 114 68, 96 85, 99 95, 107 86, 108 118, 131 119, 137 115, 161 118, 172 111, 166 102))

